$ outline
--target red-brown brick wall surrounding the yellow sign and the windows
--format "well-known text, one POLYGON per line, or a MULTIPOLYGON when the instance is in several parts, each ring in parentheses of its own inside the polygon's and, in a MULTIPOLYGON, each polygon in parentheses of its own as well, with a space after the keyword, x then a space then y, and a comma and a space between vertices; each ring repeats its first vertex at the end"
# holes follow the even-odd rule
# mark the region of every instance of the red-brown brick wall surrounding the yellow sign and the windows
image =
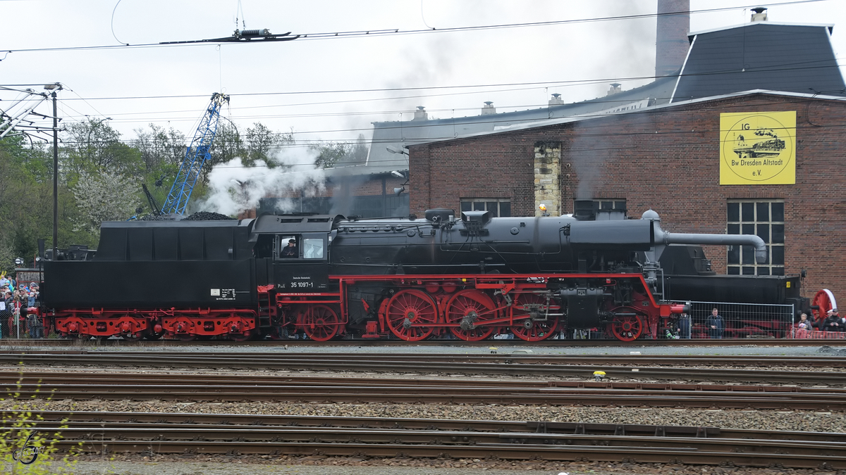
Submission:
MULTIPOLYGON (((844 125, 843 101, 756 94, 413 145, 411 212, 487 196, 533 216, 535 145, 560 142, 563 213, 579 195, 624 198, 629 216, 656 210, 667 231, 724 233, 727 199, 784 199, 785 271, 808 270, 806 296, 829 288, 846 302, 844 125), (796 111, 796 184, 721 186, 720 113, 771 111, 796 111)), ((724 273, 725 248, 706 253, 724 273)))

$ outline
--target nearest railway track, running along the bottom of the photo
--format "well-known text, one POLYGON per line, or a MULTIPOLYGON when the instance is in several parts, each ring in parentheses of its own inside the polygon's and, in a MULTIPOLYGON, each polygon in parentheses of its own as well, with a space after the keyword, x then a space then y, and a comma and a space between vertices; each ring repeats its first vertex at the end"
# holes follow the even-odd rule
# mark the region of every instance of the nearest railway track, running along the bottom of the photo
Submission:
MULTIPOLYGON (((628 461, 846 468, 846 434, 634 424, 36 412, 58 447, 96 453, 628 461)), ((3 420, 16 414, 3 413, 3 420)))

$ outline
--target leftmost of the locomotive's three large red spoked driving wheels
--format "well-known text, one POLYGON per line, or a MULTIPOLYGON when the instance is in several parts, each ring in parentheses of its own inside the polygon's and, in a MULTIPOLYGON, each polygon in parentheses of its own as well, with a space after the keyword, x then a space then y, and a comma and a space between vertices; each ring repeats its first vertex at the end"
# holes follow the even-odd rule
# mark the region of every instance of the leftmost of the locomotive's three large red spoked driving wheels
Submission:
POLYGON ((405 289, 397 292, 387 303, 387 326, 398 338, 420 341, 434 330, 426 324, 437 323, 437 306, 426 292, 405 289))

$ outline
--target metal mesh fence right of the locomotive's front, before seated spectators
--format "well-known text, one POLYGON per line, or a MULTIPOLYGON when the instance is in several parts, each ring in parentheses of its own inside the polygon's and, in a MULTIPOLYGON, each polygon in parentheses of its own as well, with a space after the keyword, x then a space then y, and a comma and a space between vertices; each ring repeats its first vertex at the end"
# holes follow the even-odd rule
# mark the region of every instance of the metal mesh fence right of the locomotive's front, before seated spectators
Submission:
POLYGON ((690 302, 689 336, 684 322, 673 315, 669 328, 659 338, 791 338, 794 335, 794 306, 772 303, 690 302), (720 325, 709 325, 711 312, 717 308, 720 325), (718 328, 711 328, 717 326, 718 328), (669 334, 667 334, 669 330, 669 334), (681 330, 681 331, 679 331, 681 330))

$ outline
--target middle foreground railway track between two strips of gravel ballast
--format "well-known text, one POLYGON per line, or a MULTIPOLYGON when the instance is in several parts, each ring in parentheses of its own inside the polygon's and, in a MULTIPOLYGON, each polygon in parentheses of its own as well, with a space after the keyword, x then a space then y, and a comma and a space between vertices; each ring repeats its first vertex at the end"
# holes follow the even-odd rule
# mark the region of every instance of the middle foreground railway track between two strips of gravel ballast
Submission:
POLYGON ((667 385, 591 381, 373 379, 185 374, 0 373, 18 398, 106 401, 288 401, 600 407, 844 410, 846 390, 783 386, 667 385))

